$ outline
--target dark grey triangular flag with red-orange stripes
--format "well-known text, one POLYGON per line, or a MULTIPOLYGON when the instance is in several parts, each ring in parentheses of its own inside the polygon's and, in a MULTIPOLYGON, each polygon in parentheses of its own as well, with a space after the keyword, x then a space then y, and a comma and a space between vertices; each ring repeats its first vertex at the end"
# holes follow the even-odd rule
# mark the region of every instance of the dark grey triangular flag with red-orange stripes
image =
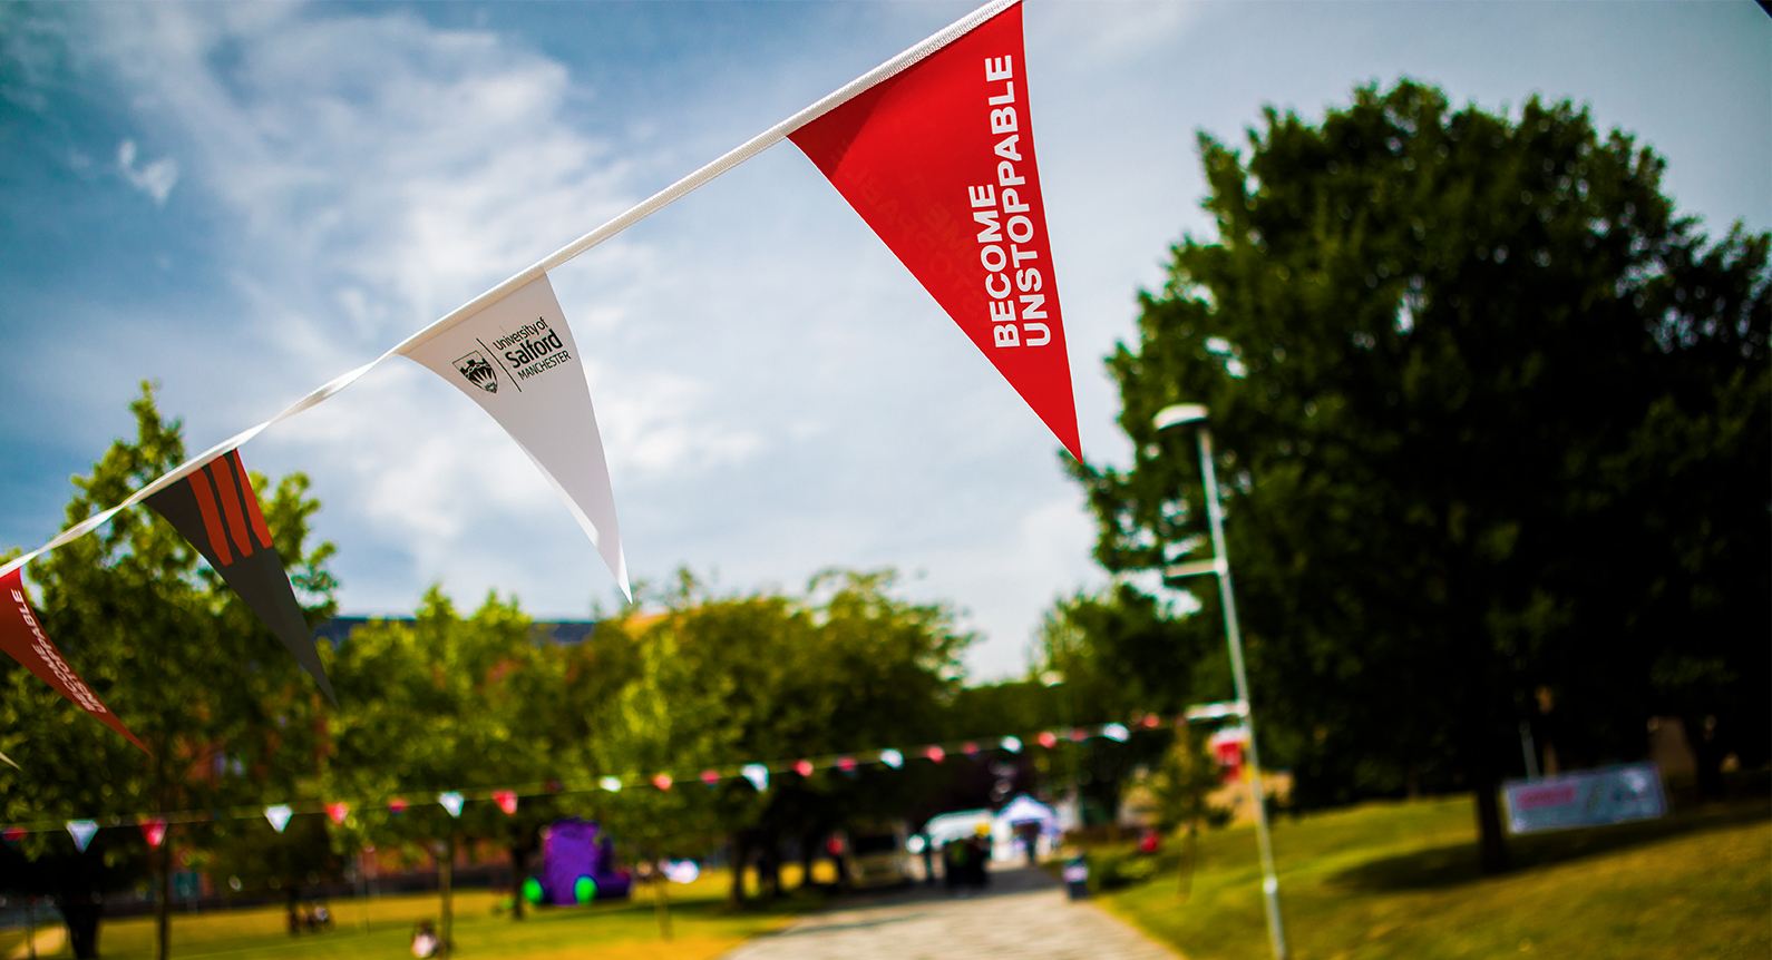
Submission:
POLYGON ((234 593, 296 655, 296 662, 314 675, 326 696, 337 701, 239 452, 229 450, 209 461, 145 503, 204 554, 209 567, 222 574, 234 593))

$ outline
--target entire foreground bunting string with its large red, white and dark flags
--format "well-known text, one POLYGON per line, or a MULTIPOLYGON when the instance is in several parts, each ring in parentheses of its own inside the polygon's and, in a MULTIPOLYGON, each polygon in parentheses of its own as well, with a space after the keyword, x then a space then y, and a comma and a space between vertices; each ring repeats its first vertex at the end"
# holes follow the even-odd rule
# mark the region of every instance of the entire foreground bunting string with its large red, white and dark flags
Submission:
POLYGON ((96 531, 120 510, 145 505, 202 553, 335 700, 239 448, 397 356, 443 377, 493 416, 560 494, 622 593, 633 599, 585 352, 572 338, 549 271, 783 140, 799 147, 1065 450, 1081 459, 1026 60, 1021 0, 989 0, 379 358, 314 388, 41 547, 0 560, 0 652, 147 751, 44 632, 23 581, 32 560, 96 531))

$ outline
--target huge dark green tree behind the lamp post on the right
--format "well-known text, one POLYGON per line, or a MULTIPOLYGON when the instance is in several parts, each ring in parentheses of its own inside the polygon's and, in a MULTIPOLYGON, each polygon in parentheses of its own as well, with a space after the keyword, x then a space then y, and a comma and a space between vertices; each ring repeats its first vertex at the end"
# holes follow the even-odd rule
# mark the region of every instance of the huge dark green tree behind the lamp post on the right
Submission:
POLYGON ((1200 147, 1216 236, 1108 361, 1134 461, 1077 476, 1109 570, 1210 553, 1194 439, 1152 427, 1210 407, 1302 795, 1473 788, 1494 870, 1522 721, 1598 762, 1682 712, 1763 758, 1767 236, 1706 241, 1664 161, 1568 103, 1400 81, 1200 147))

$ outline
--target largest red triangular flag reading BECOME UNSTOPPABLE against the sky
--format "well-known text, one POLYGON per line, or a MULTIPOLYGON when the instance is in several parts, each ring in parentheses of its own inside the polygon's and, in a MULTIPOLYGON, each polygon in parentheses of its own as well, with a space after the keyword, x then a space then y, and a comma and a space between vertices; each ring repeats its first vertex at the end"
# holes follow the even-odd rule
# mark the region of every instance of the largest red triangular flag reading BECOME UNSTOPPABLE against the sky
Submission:
POLYGON ((1017 4, 789 138, 1083 459, 1031 120, 1017 4))

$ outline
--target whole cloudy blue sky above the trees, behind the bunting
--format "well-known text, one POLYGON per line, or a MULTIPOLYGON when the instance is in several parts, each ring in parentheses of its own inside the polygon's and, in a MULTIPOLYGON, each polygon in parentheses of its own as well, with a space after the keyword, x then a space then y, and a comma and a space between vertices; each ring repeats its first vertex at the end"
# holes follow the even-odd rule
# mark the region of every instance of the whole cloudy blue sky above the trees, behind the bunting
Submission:
MULTIPOLYGON (((0 7, 0 546, 161 383, 191 448, 257 423, 969 4, 0 7)), ((1194 133, 1412 76, 1591 106, 1714 234, 1772 227, 1772 18, 1754 4, 1030 0, 1028 73, 1084 452, 1100 358, 1205 234, 1194 133)), ((1099 586, 1056 441, 792 145, 553 273, 588 358, 631 570, 799 588, 893 565, 1019 673, 1099 586)), ((544 616, 611 602, 519 450, 392 361, 243 448, 303 469, 347 613, 427 583, 544 616)), ((1235 560, 1235 558, 1233 558, 1235 560)))

